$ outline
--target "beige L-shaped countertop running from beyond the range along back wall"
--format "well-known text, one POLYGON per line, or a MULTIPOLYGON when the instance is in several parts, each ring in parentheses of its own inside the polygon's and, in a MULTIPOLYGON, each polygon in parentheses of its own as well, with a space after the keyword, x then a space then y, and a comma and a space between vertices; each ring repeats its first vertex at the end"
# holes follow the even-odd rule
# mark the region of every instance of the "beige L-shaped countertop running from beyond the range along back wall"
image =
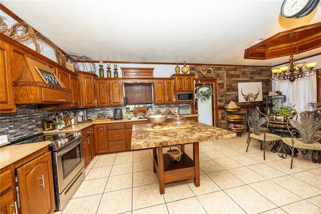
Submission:
MULTIPOLYGON (((190 114, 190 115, 182 115, 184 117, 198 117, 198 115, 190 114)), ((170 116, 169 116, 170 117, 170 116)), ((94 124, 109 124, 109 123, 124 123, 124 122, 137 122, 137 121, 147 121, 147 119, 130 119, 123 118, 120 120, 107 120, 107 119, 96 119, 94 121, 86 121, 86 122, 80 122, 75 125, 72 125, 70 127, 64 128, 62 130, 51 130, 51 131, 43 131, 44 134, 51 134, 51 133, 61 133, 61 132, 76 132, 81 131, 82 129, 85 129, 91 125, 94 124)))

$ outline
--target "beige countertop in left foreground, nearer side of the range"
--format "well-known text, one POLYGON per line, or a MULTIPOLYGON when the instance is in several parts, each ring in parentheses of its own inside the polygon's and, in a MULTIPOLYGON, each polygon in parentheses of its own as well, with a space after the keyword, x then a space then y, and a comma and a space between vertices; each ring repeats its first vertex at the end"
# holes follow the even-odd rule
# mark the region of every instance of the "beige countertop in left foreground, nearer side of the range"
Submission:
POLYGON ((10 145, 0 148, 0 169, 48 146, 50 141, 38 143, 10 145))

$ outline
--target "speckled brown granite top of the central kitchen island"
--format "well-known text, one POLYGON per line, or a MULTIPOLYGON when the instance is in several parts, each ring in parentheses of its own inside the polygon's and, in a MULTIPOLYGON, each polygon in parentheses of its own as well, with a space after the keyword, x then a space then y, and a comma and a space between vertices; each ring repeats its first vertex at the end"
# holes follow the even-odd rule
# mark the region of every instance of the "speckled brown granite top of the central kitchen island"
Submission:
MULTIPOLYGON (((170 146, 177 144, 187 144, 207 140, 234 138, 235 132, 209 126, 195 121, 188 121, 191 125, 187 129, 171 129, 145 131, 153 124, 135 124, 132 128, 131 149, 146 149, 159 146, 170 146)), ((164 126, 167 123, 162 124, 164 126)))

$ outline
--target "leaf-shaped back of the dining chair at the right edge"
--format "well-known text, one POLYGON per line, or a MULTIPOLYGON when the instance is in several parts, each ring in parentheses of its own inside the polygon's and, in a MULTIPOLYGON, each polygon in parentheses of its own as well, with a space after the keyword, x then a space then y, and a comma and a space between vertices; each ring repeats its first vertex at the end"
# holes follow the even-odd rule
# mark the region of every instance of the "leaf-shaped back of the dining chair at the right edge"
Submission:
POLYGON ((297 138, 303 143, 313 143, 321 139, 321 137, 314 138, 317 131, 321 129, 321 120, 315 117, 314 112, 301 112, 291 116, 288 119, 287 129, 292 139, 297 138))

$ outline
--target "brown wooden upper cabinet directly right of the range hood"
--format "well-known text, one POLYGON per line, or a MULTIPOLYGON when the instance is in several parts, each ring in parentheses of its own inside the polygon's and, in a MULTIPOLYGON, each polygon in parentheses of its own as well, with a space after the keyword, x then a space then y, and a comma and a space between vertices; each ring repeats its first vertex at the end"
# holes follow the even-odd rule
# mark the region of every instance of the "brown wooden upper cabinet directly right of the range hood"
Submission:
POLYGON ((78 87, 78 75, 68 73, 60 68, 56 69, 57 77, 59 78, 60 82, 62 82, 66 88, 71 89, 72 94, 72 103, 61 103, 58 105, 59 109, 70 109, 70 108, 77 108, 80 106, 80 99, 79 99, 79 87, 78 87))

